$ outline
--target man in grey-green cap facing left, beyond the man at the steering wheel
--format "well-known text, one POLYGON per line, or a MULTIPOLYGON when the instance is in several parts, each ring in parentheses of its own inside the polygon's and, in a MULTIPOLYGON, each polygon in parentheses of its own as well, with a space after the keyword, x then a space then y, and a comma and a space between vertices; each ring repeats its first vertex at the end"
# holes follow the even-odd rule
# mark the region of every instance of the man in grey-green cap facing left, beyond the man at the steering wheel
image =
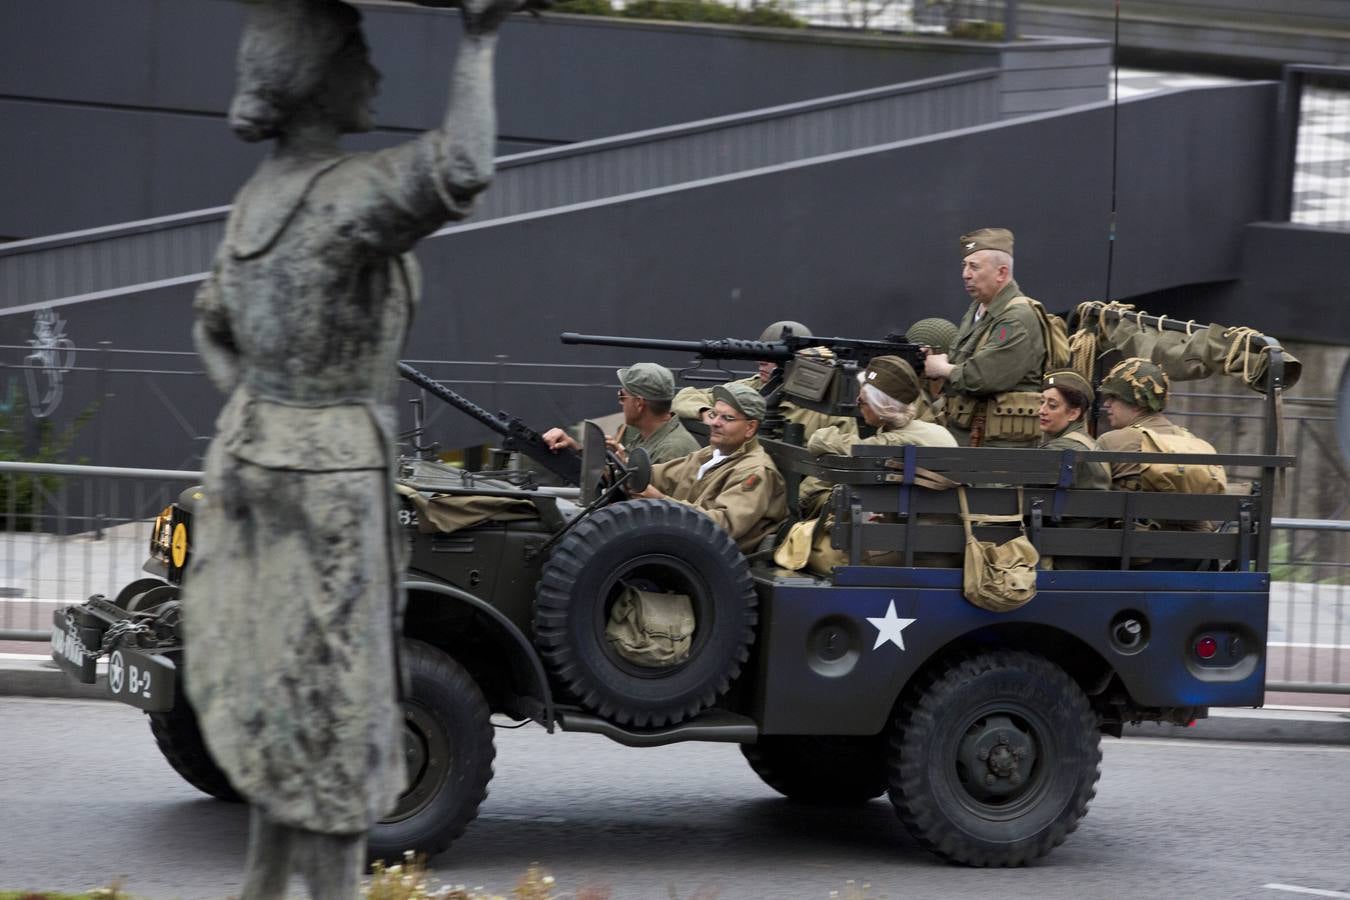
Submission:
MULTIPOLYGON (((675 376, 664 366, 636 363, 618 370, 618 406, 624 410, 624 425, 605 444, 625 461, 628 452, 639 447, 647 451, 652 463, 666 463, 697 451, 698 441, 671 413, 674 397, 675 376)), ((544 443, 555 451, 580 448, 576 439, 560 428, 544 432, 544 443)))

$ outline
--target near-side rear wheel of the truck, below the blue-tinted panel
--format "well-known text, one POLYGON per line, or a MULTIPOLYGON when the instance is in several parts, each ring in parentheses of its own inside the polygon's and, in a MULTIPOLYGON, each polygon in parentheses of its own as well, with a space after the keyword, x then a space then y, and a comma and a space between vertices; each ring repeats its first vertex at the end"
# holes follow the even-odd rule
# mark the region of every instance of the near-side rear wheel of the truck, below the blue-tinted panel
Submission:
POLYGON ((1077 827, 1102 773, 1102 735, 1064 669, 996 650, 921 676, 891 738, 891 803, 953 862, 1015 866, 1077 827))

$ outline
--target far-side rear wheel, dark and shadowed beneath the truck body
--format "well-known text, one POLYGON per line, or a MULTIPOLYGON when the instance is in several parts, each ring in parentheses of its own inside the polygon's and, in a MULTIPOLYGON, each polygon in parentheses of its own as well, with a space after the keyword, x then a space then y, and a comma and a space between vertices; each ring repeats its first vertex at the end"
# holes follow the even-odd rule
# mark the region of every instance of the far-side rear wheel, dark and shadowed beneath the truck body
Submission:
POLYGON ((886 793, 886 738, 768 735, 741 754, 764 784, 802 803, 867 803, 886 793))

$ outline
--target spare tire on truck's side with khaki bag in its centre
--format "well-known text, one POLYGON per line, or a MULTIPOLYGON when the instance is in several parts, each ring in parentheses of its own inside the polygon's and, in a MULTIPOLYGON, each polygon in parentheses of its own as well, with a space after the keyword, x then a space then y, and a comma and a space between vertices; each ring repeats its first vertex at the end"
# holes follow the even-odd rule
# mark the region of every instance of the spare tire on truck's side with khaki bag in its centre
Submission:
POLYGON ((674 501, 595 510, 558 544, 540 573, 535 641, 586 708, 620 725, 662 726, 710 707, 749 657, 759 621, 749 565, 707 515, 674 501), (625 586, 687 594, 688 657, 649 668, 605 638, 625 586))

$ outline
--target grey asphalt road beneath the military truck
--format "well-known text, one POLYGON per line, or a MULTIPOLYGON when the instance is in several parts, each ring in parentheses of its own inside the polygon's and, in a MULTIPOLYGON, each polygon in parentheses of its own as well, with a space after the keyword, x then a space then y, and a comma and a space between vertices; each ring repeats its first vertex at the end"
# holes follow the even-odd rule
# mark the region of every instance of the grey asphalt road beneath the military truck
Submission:
MULTIPOLYGON (((140 712, 5 698, 0 734, 0 892, 117 877, 153 900, 238 892, 244 808, 182 783, 140 712)), ((1107 739, 1081 827, 1017 870, 938 862, 884 799, 844 812, 782 800, 730 745, 632 750, 529 726, 497 746, 482 816, 432 861, 443 882, 508 895, 537 861, 559 888, 612 900, 825 900, 849 880, 867 900, 1350 897, 1346 746, 1107 739)))

